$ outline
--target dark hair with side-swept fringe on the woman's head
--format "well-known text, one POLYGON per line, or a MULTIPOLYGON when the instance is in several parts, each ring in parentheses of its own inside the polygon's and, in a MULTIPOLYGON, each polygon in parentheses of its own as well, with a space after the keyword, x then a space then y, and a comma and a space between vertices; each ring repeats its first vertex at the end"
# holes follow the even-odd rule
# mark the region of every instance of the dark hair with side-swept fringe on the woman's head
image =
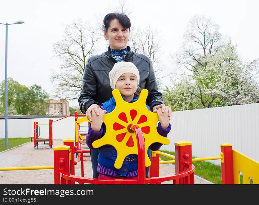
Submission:
POLYGON ((108 28, 110 26, 110 23, 112 20, 118 19, 119 23, 122 25, 123 28, 125 29, 130 29, 130 20, 129 17, 127 17, 126 14, 124 13, 109 13, 107 14, 104 19, 103 19, 103 29, 105 31, 108 31, 108 28))

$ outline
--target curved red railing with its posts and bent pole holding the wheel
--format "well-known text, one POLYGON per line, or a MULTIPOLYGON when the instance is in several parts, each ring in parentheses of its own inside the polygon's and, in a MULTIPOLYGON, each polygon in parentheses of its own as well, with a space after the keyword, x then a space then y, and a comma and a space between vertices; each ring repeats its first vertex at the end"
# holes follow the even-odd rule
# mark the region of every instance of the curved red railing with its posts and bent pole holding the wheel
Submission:
MULTIPOLYGON (((64 145, 53 148, 54 150, 54 183, 55 184, 161 184, 163 181, 173 181, 174 184, 194 184, 194 165, 192 165, 191 143, 180 141, 175 143, 176 172, 172 175, 159 176, 159 158, 152 153, 150 178, 145 178, 145 144, 141 129, 137 125, 131 128, 136 133, 138 145, 138 179, 96 179, 74 175, 75 146, 74 140, 64 140, 64 145)), ((83 160, 81 161, 83 162, 83 160)), ((81 164, 83 167, 83 164, 81 164)), ((82 168, 81 167, 81 168, 82 168)))

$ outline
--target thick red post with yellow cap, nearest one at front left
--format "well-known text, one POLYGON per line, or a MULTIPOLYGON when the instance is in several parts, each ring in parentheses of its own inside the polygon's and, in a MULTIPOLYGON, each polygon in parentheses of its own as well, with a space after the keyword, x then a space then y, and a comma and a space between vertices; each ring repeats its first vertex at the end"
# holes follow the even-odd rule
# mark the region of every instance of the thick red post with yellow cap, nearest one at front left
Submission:
POLYGON ((69 173, 69 150, 67 145, 53 147, 54 151, 54 184, 66 184, 64 178, 60 178, 59 171, 64 170, 69 173))

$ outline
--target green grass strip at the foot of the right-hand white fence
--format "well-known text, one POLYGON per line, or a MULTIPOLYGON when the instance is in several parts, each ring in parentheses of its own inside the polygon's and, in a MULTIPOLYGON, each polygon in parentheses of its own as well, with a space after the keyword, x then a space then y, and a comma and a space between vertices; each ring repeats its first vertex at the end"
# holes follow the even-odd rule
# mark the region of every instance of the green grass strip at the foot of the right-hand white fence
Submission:
MULTIPOLYGON (((165 150, 160 150, 161 152, 165 152, 170 155, 175 155, 175 152, 168 152, 165 150)), ((172 160, 167 157, 161 156, 161 160, 172 160)), ((192 157, 196 158, 196 157, 192 157)), ((199 162, 192 162, 192 164, 195 166, 195 175, 200 176, 212 183, 215 184, 222 184, 221 181, 221 166, 215 165, 213 163, 210 163, 208 161, 199 161, 199 162)))

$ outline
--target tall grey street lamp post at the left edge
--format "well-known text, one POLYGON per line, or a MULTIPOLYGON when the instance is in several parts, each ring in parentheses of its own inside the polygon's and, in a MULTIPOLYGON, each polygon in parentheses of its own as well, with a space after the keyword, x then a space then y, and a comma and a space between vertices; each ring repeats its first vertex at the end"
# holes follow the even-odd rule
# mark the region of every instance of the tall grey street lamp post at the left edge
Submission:
MULTIPOLYGON (((13 24, 23 24, 24 21, 16 21, 15 23, 13 24)), ((0 23, 2 24, 2 23, 0 23)), ((8 118, 8 115, 7 115, 7 99, 8 99, 8 84, 7 84, 7 34, 8 34, 8 25, 11 25, 11 24, 8 24, 8 23, 5 23, 5 81, 4 81, 4 130, 5 130, 5 134, 4 134, 4 144, 5 144, 5 147, 8 147, 8 129, 7 129, 7 118, 8 118)))

